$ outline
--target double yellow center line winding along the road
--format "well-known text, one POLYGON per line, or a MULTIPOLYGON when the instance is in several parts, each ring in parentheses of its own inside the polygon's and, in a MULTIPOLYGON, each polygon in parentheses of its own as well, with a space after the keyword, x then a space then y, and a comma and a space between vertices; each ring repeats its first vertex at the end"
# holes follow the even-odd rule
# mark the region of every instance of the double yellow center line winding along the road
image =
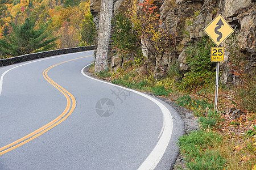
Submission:
MULTIPOLYGON (((90 55, 92 56, 92 55, 90 55)), ((85 57, 89 57, 89 56, 85 56, 85 57)), ((67 99, 67 106, 65 108, 65 110, 63 111, 63 113, 60 114, 60 116, 56 117, 54 120, 52 120, 51 122, 49 122, 48 124, 42 126, 41 128, 33 131, 32 133, 24 136, 23 138, 18 139, 17 141, 10 143, 9 145, 3 146, 0 148, 0 155, 5 154, 6 152, 9 152, 11 150, 14 150, 15 148, 24 145, 27 142, 32 141, 32 139, 35 139, 37 137, 39 137, 40 135, 46 133, 48 130, 51 130, 52 128, 54 128, 55 126, 59 125, 61 122, 63 122, 66 118, 69 117, 69 115, 74 111, 75 107, 76 107, 76 100, 75 97, 68 92, 67 90, 65 90, 63 87, 61 87, 59 84, 57 84, 56 82, 54 82, 51 78, 49 78, 49 76, 47 75, 48 71, 51 70, 53 67, 59 66, 63 63, 66 62, 70 62, 70 61, 74 61, 76 59, 80 59, 80 58, 85 58, 85 57, 79 57, 79 58, 75 58, 75 59, 70 59, 68 61, 64 61, 61 63, 57 63, 56 65, 50 66, 48 67, 46 70, 43 71, 43 76, 44 79, 47 80, 47 82, 49 82, 50 84, 52 84, 52 86, 54 86, 55 88, 57 88, 57 90, 59 90, 67 99)))

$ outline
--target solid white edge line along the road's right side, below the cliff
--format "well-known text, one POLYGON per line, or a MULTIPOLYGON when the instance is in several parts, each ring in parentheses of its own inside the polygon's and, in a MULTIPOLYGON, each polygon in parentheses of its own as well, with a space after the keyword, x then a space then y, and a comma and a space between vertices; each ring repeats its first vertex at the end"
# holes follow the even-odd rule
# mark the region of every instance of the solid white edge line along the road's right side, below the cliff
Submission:
MULTIPOLYGON (((91 63, 89 65, 91 65, 91 63)), ((112 84, 109 82, 104 82, 102 80, 98 80, 96 78, 92 78, 91 76, 86 75, 84 73, 84 69, 86 67, 88 67, 89 65, 82 68, 82 70, 81 70, 82 75, 86 76, 87 78, 97 80, 98 82, 102 82, 102 83, 110 84, 112 86, 123 88, 122 86, 118 86, 116 84, 112 84)), ((154 99, 153 97, 150 97, 146 94, 143 94, 142 92, 138 92, 135 90, 129 89, 129 91, 134 92, 135 94, 141 95, 141 96, 146 97, 147 99, 153 101, 156 105, 158 105, 158 107, 161 109, 161 111, 163 113, 163 128, 159 134, 159 135, 161 135, 161 133, 162 133, 162 135, 161 135, 158 143, 156 143, 155 148, 151 151, 151 153, 147 156, 146 160, 144 160, 144 162, 138 168, 139 170, 155 169, 156 165, 158 165, 158 163, 162 159, 163 154, 166 151, 166 149, 169 145, 170 139, 171 139, 172 129, 173 129, 172 116, 171 116, 170 111, 162 103, 160 103, 158 100, 154 99)))

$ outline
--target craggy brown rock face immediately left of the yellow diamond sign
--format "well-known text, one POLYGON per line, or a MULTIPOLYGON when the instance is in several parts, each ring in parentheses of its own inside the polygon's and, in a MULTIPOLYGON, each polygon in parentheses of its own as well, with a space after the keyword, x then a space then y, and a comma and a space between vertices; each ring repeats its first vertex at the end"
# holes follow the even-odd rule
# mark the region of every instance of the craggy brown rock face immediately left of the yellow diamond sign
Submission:
MULTIPOLYGON (((210 2, 212 3, 212 1, 210 2)), ((175 4, 171 0, 166 0, 160 7, 160 17, 166 21, 168 32, 171 32, 172 35, 176 34, 177 46, 181 46, 181 48, 177 48, 176 53, 171 52, 166 54, 169 61, 167 67, 170 67, 172 65, 171 63, 178 59, 179 71, 185 73, 185 71, 189 70, 189 66, 186 63, 187 56, 185 55, 185 48, 183 46, 190 39, 205 36, 203 29, 212 20, 212 14, 204 10, 204 3, 210 2, 209 0, 177 0, 175 4)), ((159 65, 164 66, 164 62, 166 61, 161 61, 162 59, 157 60, 159 65)))

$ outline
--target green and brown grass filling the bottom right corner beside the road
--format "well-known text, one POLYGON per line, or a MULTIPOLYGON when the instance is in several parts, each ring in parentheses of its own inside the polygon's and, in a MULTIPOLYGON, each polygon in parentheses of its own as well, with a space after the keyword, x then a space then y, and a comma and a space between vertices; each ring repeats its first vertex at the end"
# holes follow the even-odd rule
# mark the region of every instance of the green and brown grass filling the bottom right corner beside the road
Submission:
POLYGON ((252 139, 203 129, 184 135, 178 144, 187 169, 253 169, 256 149, 252 139))

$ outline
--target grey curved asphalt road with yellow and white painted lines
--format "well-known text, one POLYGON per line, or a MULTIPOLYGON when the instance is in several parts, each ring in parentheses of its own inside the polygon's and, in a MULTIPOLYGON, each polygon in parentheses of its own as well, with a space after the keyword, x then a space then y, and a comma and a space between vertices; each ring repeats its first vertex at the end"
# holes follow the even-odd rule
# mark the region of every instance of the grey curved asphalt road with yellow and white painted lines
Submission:
POLYGON ((177 112, 81 74, 92 54, 0 67, 0 169, 172 167, 183 135, 177 112))

